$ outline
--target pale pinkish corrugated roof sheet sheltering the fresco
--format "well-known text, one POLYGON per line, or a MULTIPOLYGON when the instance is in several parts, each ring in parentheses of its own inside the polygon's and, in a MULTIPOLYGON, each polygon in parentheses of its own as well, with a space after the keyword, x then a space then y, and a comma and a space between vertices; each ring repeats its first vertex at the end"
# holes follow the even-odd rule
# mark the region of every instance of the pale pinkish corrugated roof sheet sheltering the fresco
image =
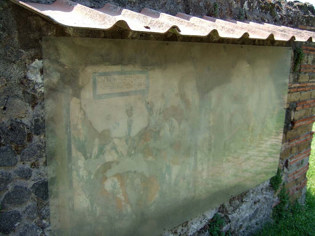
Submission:
POLYGON ((222 38, 238 39, 247 35, 251 39, 274 38, 277 41, 315 42, 315 32, 298 30, 285 26, 219 20, 209 16, 203 18, 178 13, 175 16, 144 8, 140 13, 106 4, 103 8, 92 9, 69 0, 57 0, 53 4, 23 3, 11 0, 60 25, 108 30, 115 25, 126 25, 131 31, 167 33, 183 36, 206 37, 217 31, 222 38), (121 24, 121 23, 125 24, 121 24), (313 40, 314 38, 314 40, 313 40))

